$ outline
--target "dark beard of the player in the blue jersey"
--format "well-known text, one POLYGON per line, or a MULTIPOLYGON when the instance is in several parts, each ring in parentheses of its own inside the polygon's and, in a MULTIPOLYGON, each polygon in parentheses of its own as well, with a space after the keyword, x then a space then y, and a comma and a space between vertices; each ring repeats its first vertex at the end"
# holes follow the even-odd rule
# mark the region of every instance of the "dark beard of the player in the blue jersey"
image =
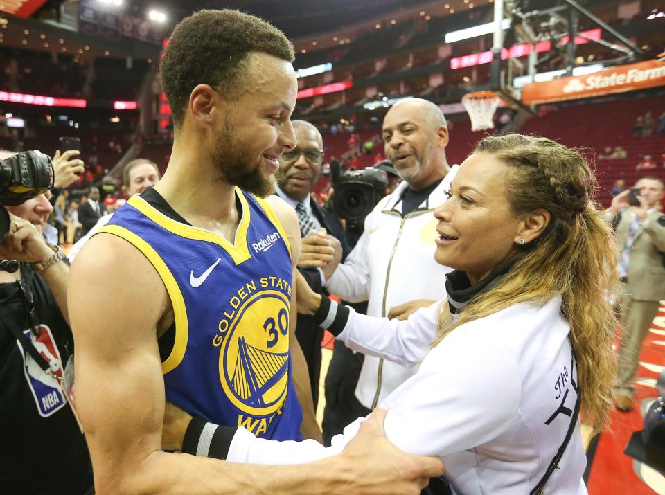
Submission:
POLYGON ((275 179, 271 175, 265 179, 261 174, 260 165, 252 168, 249 163, 249 145, 232 143, 232 131, 224 125, 224 134, 218 139, 213 154, 213 165, 227 183, 238 186, 251 194, 266 197, 274 192, 275 179))

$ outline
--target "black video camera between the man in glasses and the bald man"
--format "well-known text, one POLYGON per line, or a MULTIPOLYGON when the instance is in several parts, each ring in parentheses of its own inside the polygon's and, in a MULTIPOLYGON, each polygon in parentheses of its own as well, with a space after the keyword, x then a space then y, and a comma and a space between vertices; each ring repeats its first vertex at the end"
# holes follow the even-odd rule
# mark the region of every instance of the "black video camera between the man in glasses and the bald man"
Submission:
MULTIPOLYGON (((332 166, 332 164, 331 164, 332 166)), ((365 170, 344 172, 332 182, 332 213, 339 218, 356 221, 366 217, 388 186, 388 174, 384 170, 368 167, 365 170)))

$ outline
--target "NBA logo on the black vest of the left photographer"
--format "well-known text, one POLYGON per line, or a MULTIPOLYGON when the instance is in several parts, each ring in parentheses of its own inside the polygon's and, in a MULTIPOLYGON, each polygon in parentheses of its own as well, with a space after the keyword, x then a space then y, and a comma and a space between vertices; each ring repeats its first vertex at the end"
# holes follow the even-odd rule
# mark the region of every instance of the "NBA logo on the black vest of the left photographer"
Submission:
POLYGON ((26 380, 28 381, 30 390, 33 392, 33 397, 35 397, 37 411, 39 411, 39 415, 42 415, 42 417, 48 417, 55 413, 55 411, 59 411, 65 404, 65 398, 62 395, 59 383, 64 377, 60 352, 55 345, 51 329, 46 325, 39 325, 39 334, 37 336, 30 330, 24 330, 23 333, 27 339, 30 339, 37 352, 42 355, 49 366, 49 370, 42 370, 39 363, 17 341, 19 350, 23 354, 26 380))

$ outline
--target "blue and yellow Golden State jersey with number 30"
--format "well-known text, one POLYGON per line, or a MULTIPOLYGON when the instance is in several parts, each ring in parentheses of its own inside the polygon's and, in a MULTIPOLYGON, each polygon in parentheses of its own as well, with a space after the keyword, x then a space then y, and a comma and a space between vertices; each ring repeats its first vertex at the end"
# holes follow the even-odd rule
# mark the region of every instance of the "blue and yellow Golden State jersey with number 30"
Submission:
POLYGON ((175 344, 162 362, 166 398, 208 422, 301 440, 287 333, 291 248, 265 200, 238 188, 236 197, 233 243, 138 195, 100 232, 134 244, 166 285, 175 314, 175 344))

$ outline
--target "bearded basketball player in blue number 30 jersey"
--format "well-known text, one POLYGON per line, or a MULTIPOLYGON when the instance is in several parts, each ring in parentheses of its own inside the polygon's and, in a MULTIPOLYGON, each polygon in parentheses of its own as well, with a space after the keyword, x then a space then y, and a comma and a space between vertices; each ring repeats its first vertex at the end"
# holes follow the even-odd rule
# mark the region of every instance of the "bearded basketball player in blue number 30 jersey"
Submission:
MULTIPOLYGON (((441 470, 410 458, 393 474, 378 459, 369 478, 353 467, 349 480, 342 456, 306 470, 215 471, 160 449, 165 399, 263 438, 301 438, 294 381, 312 413, 303 431, 318 434, 291 338, 299 224, 280 199, 260 199, 278 156, 294 147, 292 60, 283 33, 233 10, 197 12, 170 37, 161 64, 175 127, 168 170, 118 210, 71 270, 76 406, 98 494, 400 493, 441 470)), ((375 447, 375 458, 386 455, 375 447)))

